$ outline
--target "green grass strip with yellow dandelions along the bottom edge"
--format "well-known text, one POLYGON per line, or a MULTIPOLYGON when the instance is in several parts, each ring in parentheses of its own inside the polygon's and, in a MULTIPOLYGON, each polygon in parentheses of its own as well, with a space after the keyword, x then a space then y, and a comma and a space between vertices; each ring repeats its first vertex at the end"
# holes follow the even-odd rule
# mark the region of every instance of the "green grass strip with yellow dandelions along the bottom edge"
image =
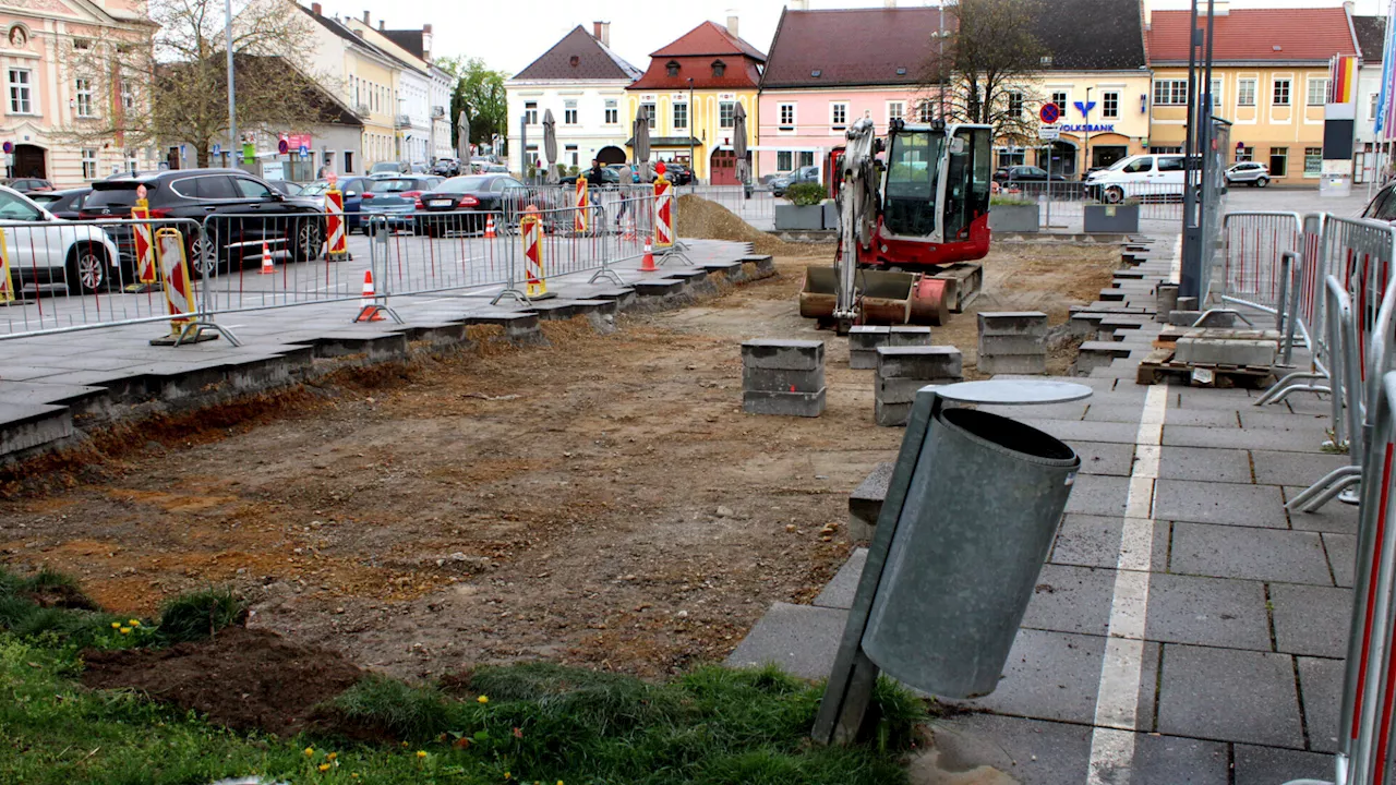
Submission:
MULTIPOLYGON (((807 733, 821 689, 773 668, 709 666, 652 684, 528 663, 479 668, 450 686, 371 676, 322 707, 334 735, 243 735, 77 683, 81 645, 159 645, 173 640, 161 631, 172 608, 197 620, 180 630, 202 631, 222 602, 207 594, 172 602, 159 627, 124 636, 101 612, 39 609, 81 622, 28 633, 4 616, 7 601, 25 602, 24 585, 0 570, 0 782, 201 784, 260 774, 296 784, 501 784, 508 772, 511 782, 549 785, 893 785, 905 782, 900 757, 924 721, 919 698, 882 682, 872 743, 818 747, 807 733)), ((18 616, 36 626, 32 608, 18 616)))

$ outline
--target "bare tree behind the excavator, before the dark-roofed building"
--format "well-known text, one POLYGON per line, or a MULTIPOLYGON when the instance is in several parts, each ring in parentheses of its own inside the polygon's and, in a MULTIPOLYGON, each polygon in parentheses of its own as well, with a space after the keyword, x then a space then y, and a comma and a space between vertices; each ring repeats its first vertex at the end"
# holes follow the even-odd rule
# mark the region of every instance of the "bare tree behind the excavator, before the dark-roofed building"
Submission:
POLYGON ((938 101, 945 85, 946 120, 993 126, 995 140, 1015 144, 1036 137, 1036 74, 1047 50, 1033 29, 1041 13, 1041 0, 959 0, 948 7, 949 32, 931 41, 924 101, 938 101))

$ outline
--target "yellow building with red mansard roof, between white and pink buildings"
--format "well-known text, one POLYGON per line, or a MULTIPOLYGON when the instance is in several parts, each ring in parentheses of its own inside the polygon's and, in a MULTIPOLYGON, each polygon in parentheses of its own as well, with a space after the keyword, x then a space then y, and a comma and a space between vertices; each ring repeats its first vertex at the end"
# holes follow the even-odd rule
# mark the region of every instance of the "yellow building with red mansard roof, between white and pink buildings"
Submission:
POLYGON ((653 119, 652 159, 687 162, 699 180, 736 184, 736 109, 747 113, 750 161, 765 63, 766 56, 737 35, 737 17, 727 17, 727 27, 704 22, 651 53, 649 68, 625 88, 625 127, 644 108, 653 119))

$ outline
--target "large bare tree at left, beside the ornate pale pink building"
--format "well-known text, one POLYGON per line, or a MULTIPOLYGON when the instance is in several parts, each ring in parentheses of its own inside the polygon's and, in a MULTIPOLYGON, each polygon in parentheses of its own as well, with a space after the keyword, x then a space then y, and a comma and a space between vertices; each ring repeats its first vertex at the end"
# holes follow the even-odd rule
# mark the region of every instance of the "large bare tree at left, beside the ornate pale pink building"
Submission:
MULTIPOLYGON (((314 46, 303 14, 286 0, 237 0, 233 75, 239 131, 275 131, 324 120, 304 54, 314 46)), ((228 41, 222 0, 149 0, 156 25, 148 43, 74 49, 70 70, 85 74, 107 110, 78 115, 77 140, 117 138, 124 147, 194 145, 198 165, 228 137, 228 41)))

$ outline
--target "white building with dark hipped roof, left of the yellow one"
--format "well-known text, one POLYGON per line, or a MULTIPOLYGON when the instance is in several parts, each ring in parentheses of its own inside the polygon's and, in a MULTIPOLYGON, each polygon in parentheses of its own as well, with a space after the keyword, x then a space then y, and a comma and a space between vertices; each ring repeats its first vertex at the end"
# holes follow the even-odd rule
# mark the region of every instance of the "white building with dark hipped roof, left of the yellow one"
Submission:
POLYGON ((574 28, 504 82, 511 166, 526 173, 525 161, 543 158, 543 115, 549 109, 557 122, 560 163, 585 169, 592 158, 624 162, 630 138, 625 87, 639 75, 639 68, 610 50, 610 22, 595 22, 591 34, 581 25, 574 28), (521 120, 526 141, 519 137, 521 120))

